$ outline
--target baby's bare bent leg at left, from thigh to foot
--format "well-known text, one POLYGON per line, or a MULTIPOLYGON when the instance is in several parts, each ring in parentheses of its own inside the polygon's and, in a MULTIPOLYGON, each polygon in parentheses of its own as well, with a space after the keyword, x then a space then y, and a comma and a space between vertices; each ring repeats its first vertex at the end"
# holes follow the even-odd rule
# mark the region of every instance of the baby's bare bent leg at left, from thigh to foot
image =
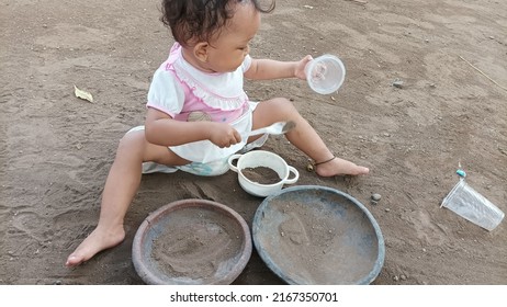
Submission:
POLYGON ((178 158, 167 147, 149 144, 144 130, 127 133, 120 141, 116 157, 105 181, 97 228, 68 257, 75 266, 125 238, 123 220, 139 186, 143 161, 171 164, 178 158))

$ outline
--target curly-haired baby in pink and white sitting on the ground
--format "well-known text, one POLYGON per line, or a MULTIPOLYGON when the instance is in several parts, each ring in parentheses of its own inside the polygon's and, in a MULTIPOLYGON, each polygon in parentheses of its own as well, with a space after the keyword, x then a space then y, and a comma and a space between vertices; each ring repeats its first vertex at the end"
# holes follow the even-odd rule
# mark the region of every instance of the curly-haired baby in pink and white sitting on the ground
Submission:
POLYGON ((368 168, 335 157, 289 100, 252 102, 245 93, 244 78, 304 80, 304 67, 312 60, 311 56, 277 61, 248 55, 260 13, 273 8, 274 2, 264 9, 258 0, 162 1, 162 22, 176 43, 154 75, 145 125, 120 141, 105 181, 99 224, 68 257, 67 266, 124 239, 123 220, 142 173, 224 173, 230 155, 266 140, 266 136, 243 136, 274 122, 295 123, 285 137, 315 161, 318 175, 369 173, 368 168))

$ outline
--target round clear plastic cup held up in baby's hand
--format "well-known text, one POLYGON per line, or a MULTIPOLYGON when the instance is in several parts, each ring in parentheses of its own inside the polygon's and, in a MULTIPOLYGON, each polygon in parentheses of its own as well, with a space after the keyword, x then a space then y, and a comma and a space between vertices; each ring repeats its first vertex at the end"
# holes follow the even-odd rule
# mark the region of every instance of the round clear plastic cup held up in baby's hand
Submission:
POLYGON ((343 84, 345 66, 334 55, 322 55, 305 67, 306 81, 312 90, 319 94, 330 94, 343 84))

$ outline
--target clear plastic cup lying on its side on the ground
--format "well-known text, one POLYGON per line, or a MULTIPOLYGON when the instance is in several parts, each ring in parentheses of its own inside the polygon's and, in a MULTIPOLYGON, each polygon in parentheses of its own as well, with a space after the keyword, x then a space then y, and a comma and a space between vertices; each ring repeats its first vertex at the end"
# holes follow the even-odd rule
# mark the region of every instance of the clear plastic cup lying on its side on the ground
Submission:
POLYGON ((461 179, 443 198, 440 207, 447 207, 465 219, 492 231, 504 219, 505 214, 486 197, 461 179))

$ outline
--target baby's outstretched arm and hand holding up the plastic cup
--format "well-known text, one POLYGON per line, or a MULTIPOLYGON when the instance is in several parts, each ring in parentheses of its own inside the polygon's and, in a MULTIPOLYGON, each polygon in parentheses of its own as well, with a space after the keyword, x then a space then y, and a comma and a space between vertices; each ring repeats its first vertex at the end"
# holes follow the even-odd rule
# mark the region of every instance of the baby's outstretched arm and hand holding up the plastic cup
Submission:
POLYGON ((269 80, 281 78, 298 78, 305 80, 305 66, 311 61, 307 55, 300 61, 280 61, 273 59, 251 59, 250 68, 245 72, 245 78, 252 80, 269 80))

